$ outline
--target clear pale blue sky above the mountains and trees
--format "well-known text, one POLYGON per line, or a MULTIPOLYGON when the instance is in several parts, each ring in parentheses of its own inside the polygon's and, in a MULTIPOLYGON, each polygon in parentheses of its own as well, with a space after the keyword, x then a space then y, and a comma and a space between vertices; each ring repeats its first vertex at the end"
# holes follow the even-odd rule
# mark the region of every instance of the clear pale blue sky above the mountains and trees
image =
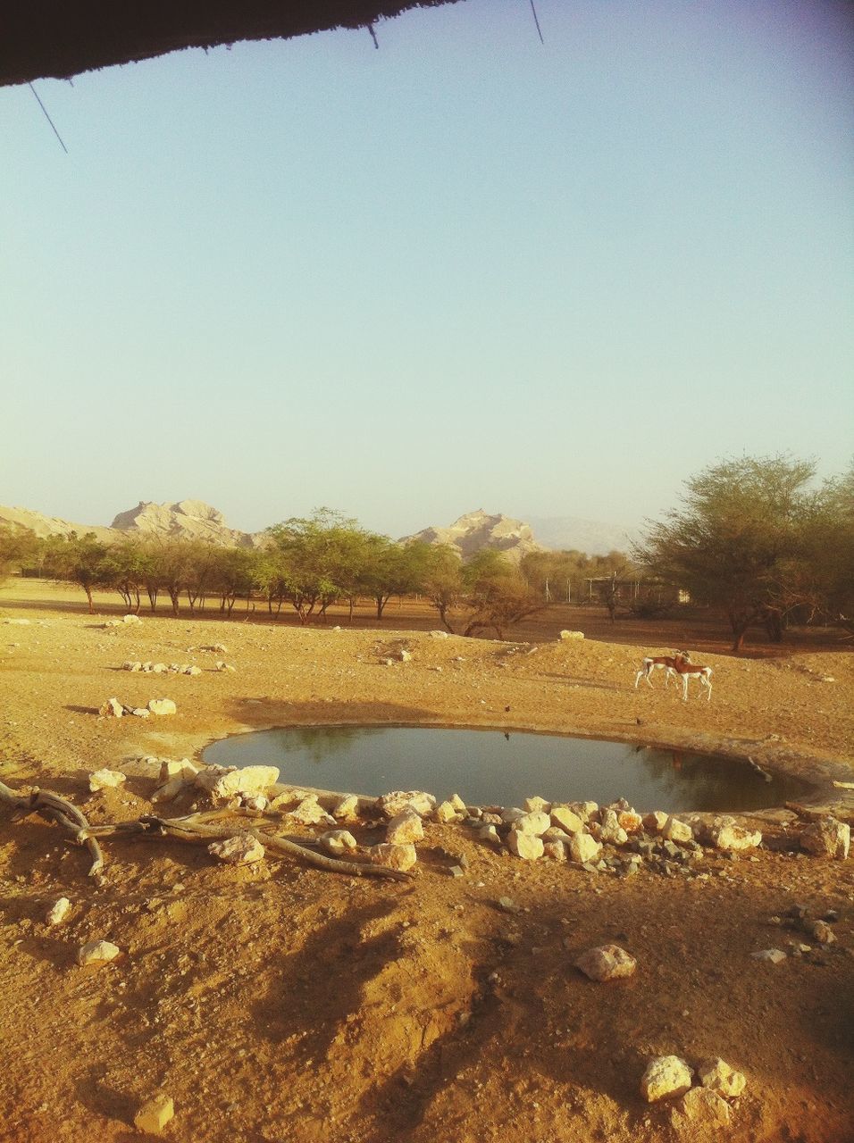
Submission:
POLYGON ((637 526, 854 453, 854 34, 465 0, 0 89, 0 503, 637 526))

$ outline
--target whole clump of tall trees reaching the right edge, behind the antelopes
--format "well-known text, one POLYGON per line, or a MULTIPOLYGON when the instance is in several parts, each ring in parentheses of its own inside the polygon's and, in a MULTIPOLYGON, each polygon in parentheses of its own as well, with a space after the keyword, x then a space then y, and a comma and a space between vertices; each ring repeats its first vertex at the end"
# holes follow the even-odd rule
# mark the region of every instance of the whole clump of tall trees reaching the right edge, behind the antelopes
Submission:
POLYGON ((816 486, 811 461, 723 461, 686 481, 681 505, 633 554, 693 602, 721 609, 735 652, 756 625, 775 642, 791 622, 851 631, 854 466, 816 486))

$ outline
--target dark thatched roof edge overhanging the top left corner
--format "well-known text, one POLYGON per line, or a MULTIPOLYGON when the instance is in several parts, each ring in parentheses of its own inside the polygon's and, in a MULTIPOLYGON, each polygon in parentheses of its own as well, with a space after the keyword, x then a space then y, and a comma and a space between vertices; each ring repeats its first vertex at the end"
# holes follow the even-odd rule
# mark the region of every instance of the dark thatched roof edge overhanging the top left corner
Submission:
POLYGON ((0 86, 70 79, 182 48, 365 27, 457 0, 0 0, 0 86))

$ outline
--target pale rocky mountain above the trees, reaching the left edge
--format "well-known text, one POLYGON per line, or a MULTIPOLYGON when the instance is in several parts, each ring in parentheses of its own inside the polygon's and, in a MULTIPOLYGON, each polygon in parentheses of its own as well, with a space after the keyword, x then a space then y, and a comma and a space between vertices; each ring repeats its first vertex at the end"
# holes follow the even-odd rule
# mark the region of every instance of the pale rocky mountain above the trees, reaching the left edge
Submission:
POLYGON ((203 501, 184 499, 175 504, 154 504, 139 501, 136 507, 120 512, 105 528, 101 525, 71 523, 55 515, 43 515, 24 507, 0 506, 0 525, 30 528, 37 536, 79 536, 93 531, 98 539, 114 543, 129 534, 182 539, 209 539, 228 546, 250 546, 260 536, 230 528, 222 512, 203 501))

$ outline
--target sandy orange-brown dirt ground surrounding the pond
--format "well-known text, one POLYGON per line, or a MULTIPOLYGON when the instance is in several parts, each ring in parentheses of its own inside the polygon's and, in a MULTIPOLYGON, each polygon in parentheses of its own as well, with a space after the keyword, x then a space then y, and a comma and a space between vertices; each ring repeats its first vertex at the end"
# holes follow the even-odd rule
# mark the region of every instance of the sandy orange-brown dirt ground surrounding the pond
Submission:
MULTIPOLYGON (((816 804, 838 799, 852 818, 854 791, 832 783, 854 781, 854 654, 835 636, 733 658, 726 632, 705 621, 612 628, 575 608, 513 631, 536 650, 509 654, 508 642, 433 639, 426 608, 394 602, 382 624, 365 610, 344 630, 260 613, 143 613, 139 626, 104 629, 121 608, 97 604, 89 616, 65 588, 0 591, 0 780, 57 790, 94 823, 152 810, 157 769, 144 756, 198 758, 228 734, 338 722, 750 754, 808 777, 816 804), (561 642, 561 628, 586 638, 561 642), (215 642, 228 653, 200 649, 215 642), (383 663, 404 646, 410 661, 383 663), (711 702, 683 703, 661 678, 634 689, 643 655, 673 647, 713 668, 711 702), (217 658, 234 673, 217 672, 217 658), (202 673, 129 673, 126 660, 202 673), (177 714, 98 718, 113 695, 170 697, 177 714), (126 785, 90 794, 101 767, 125 770, 126 785)), ((854 1138, 854 857, 800 853, 793 813, 756 821, 768 844, 736 861, 707 852, 708 877, 525 862, 463 825, 428 824, 402 884, 107 839, 96 885, 87 853, 56 826, 13 822, 0 807, 0 1140, 136 1140, 134 1114, 158 1092, 175 1105, 163 1136, 182 1143, 854 1138), (450 877, 461 856, 465 876, 450 877), (61 895, 73 910, 50 927, 61 895), (751 959, 807 940, 772 921, 795 905, 815 918, 835 910, 836 942, 811 941, 780 965, 751 959), (79 967, 78 948, 98 938, 121 954, 79 967), (592 983, 573 964, 609 942, 638 970, 592 983), (667 1101, 641 1100, 647 1058, 671 1053, 721 1056, 747 1074, 723 1134, 675 1127, 667 1101)), ((370 822, 353 832, 383 837, 370 822)))

